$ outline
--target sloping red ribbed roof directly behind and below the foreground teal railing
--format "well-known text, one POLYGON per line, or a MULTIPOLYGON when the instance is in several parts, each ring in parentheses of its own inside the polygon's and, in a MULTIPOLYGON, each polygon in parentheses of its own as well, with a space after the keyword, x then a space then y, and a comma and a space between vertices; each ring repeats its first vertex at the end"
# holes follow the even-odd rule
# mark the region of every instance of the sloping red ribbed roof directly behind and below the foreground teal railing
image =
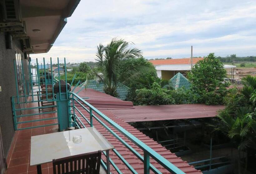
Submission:
MULTIPOLYGON (((89 119, 89 114, 82 109, 82 107, 79 107, 79 110, 89 119)), ((169 150, 167 150, 165 147, 161 146, 157 142, 155 142, 153 139, 149 138, 145 134, 141 133, 137 129, 135 129, 133 126, 130 126, 125 121, 122 121, 115 115, 113 115, 111 112, 105 110, 103 113, 109 117, 111 120, 115 121, 117 124, 122 126, 124 129, 129 131, 131 134, 133 134, 135 137, 140 139, 142 142, 147 144, 150 148, 154 149, 157 153, 165 157, 167 160, 169 160, 171 163, 173 163, 176 167, 180 168, 183 172, 187 174, 201 174, 201 171, 196 170, 193 166, 190 166, 186 161, 183 161, 180 157, 177 157, 175 153, 171 153, 169 150)), ((77 115, 79 113, 77 112, 77 115)), ((88 123, 80 117, 81 120, 85 125, 88 125, 88 123)), ((140 153, 143 156, 143 151, 136 146, 132 141, 130 141, 128 138, 126 138, 124 135, 122 135, 119 131, 115 130, 110 124, 108 124, 106 121, 100 118, 101 121, 103 121, 108 127, 110 127, 117 135, 119 135, 123 140, 125 140, 132 148, 134 148, 138 153, 140 153)), ((89 126, 89 125, 88 125, 89 126)), ((143 174, 143 163, 135 157, 135 155, 127 149, 119 140, 117 140, 109 131, 107 131, 101 124, 93 119, 93 126, 115 147, 115 149, 127 160, 128 163, 138 172, 139 174, 143 174)), ((102 155, 102 158, 106 161, 106 157, 102 155)), ((121 170, 122 173, 131 173, 129 169, 125 166, 124 163, 116 156, 116 154, 113 151, 110 151, 110 158, 114 161, 114 163, 117 165, 117 167, 121 170)), ((150 163, 154 165, 160 172, 167 174, 168 172, 164 167, 162 167, 159 163, 157 163, 154 159, 150 158, 150 163)), ((111 166, 111 172, 113 174, 116 174, 117 172, 115 169, 111 166)), ((153 172, 150 172, 153 173, 153 172)))

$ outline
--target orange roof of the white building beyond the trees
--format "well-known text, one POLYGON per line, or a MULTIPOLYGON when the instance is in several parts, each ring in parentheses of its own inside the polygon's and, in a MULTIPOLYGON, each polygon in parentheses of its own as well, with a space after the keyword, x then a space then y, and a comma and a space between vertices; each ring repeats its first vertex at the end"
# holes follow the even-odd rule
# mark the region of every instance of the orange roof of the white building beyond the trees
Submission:
MULTIPOLYGON (((203 59, 203 57, 193 58, 193 64, 203 59)), ((149 62, 151 62, 153 65, 184 65, 190 64, 190 58, 150 60, 149 62)))

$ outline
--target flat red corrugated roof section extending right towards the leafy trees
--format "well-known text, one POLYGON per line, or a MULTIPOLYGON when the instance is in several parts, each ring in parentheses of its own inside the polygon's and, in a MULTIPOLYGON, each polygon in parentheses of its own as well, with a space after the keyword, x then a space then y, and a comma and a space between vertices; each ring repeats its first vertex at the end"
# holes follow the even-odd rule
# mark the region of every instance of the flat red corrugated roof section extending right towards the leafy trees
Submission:
POLYGON ((132 109, 110 110, 125 122, 178 120, 189 118, 215 117, 223 105, 204 104, 134 106, 132 109))

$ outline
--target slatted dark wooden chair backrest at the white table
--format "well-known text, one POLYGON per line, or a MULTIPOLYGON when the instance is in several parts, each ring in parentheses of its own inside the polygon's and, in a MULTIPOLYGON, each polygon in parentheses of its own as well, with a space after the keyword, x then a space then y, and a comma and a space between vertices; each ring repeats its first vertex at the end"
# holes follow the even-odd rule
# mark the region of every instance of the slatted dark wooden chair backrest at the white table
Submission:
POLYGON ((53 159, 53 174, 99 174, 101 151, 53 159))

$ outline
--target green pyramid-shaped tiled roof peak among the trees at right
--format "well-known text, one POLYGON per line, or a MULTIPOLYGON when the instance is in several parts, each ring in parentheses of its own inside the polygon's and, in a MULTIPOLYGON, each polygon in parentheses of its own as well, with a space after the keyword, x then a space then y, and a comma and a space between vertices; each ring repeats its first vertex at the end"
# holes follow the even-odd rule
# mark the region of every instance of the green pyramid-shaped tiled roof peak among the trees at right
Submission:
POLYGON ((181 87, 185 87, 185 89, 190 88, 189 80, 186 77, 184 77, 180 72, 173 76, 169 80, 169 83, 175 90, 181 87))

